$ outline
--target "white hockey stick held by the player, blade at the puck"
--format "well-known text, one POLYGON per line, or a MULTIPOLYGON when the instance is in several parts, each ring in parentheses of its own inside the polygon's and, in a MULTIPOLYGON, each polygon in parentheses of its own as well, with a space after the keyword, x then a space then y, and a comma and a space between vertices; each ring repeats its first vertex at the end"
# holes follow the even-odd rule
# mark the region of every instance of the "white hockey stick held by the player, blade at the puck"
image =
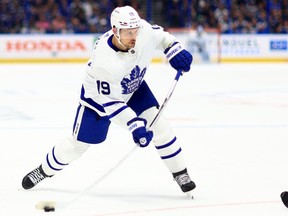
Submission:
MULTIPOLYGON (((154 119, 152 120, 151 124, 148 127, 148 130, 158 121, 158 119, 160 118, 160 116, 163 113, 163 110, 166 108, 168 101, 170 100, 172 93, 174 92, 174 89, 176 87, 176 84, 180 78, 180 76, 182 75, 182 70, 178 70, 177 74, 174 78, 173 84, 166 96, 166 98, 164 99, 161 107, 159 108, 158 113, 156 114, 156 116, 154 117, 154 119)), ((95 185, 99 184, 101 181, 103 181, 103 179, 105 179, 107 176, 109 176, 114 170, 116 170, 121 164, 124 163, 124 161, 130 156, 132 155, 132 153, 138 148, 138 145, 135 145, 127 154, 125 154, 125 156, 118 161, 118 163, 113 166, 112 168, 110 168, 103 176, 101 176, 99 179, 97 179, 96 181, 94 181, 91 185, 89 185, 87 188, 83 189, 82 191, 80 191, 79 193, 76 194, 76 196, 71 199, 68 202, 56 202, 56 201, 40 201, 36 204, 36 209, 38 210, 44 210, 45 212, 50 212, 50 211, 55 211, 55 209, 63 209, 66 208, 68 206, 70 206, 72 203, 74 203, 76 200, 78 200, 80 197, 82 197, 85 193, 87 193, 87 191, 89 191, 91 188, 93 188, 95 185)))

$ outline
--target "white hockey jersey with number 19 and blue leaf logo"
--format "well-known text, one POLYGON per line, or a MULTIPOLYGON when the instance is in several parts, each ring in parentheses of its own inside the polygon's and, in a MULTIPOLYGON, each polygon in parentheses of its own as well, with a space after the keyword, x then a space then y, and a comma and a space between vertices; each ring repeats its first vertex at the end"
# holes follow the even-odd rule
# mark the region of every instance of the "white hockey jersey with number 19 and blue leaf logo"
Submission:
POLYGON ((135 47, 128 52, 112 44, 112 30, 98 38, 81 89, 81 104, 120 126, 136 117, 126 103, 142 83, 154 51, 164 51, 176 41, 159 26, 145 20, 141 24, 135 47))

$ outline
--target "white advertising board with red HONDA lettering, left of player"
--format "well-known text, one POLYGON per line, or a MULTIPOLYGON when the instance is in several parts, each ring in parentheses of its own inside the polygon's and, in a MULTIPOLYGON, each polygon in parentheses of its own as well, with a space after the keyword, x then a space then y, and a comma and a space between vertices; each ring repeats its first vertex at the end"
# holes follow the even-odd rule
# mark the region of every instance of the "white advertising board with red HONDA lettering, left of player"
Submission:
POLYGON ((95 35, 1 35, 0 62, 84 61, 95 35))

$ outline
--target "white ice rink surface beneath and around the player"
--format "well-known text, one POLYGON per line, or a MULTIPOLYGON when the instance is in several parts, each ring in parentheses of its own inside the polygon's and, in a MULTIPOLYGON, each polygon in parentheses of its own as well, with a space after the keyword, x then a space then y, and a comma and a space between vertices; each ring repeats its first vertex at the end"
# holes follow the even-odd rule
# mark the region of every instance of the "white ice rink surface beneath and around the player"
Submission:
MULTIPOLYGON (((193 65, 180 78, 166 117, 181 141, 197 188, 188 199, 151 145, 137 149, 102 182, 65 209, 45 213, 37 202, 65 203, 101 178, 134 147, 111 126, 106 142, 35 189, 24 175, 71 132, 84 65, 0 65, 1 216, 286 216, 288 190, 288 64, 193 65)), ((175 72, 151 65, 147 81, 162 102, 175 72)))

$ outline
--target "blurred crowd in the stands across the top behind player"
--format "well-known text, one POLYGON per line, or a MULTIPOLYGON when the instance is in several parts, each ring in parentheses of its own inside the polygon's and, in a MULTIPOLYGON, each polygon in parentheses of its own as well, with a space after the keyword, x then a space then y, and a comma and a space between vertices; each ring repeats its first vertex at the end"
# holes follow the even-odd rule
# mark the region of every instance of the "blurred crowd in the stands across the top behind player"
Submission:
POLYGON ((0 33, 102 33, 124 5, 164 28, 288 33, 288 0, 1 0, 0 33))

